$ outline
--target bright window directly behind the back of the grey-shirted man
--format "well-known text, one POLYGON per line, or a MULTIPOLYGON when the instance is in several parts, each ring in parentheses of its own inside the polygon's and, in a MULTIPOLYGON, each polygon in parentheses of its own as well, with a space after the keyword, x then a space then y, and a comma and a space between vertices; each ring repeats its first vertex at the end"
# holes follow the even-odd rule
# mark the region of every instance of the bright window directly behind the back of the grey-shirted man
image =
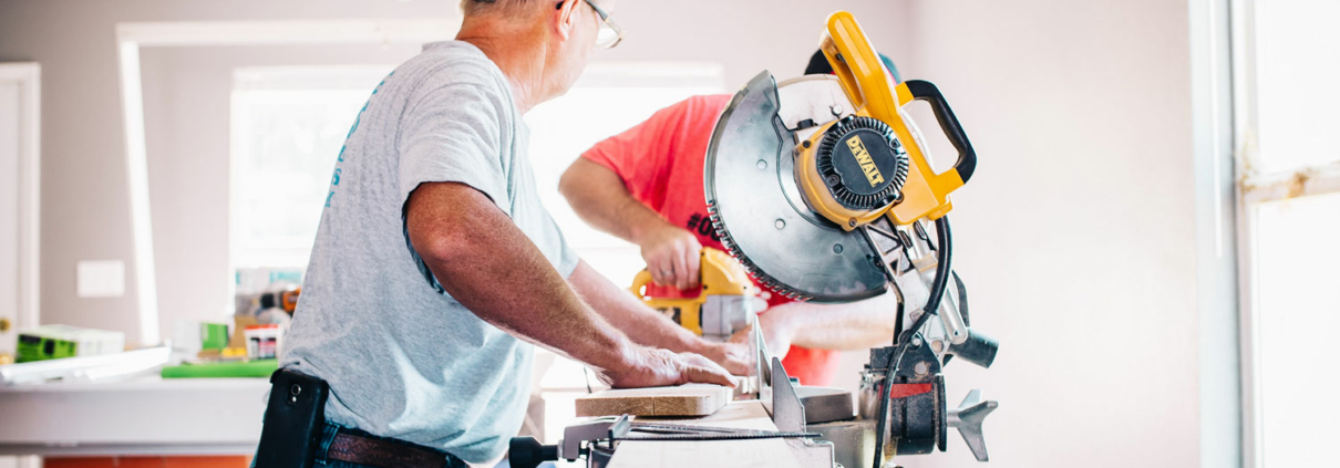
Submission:
POLYGON ((306 269, 335 155, 391 67, 267 67, 233 74, 234 269, 306 269))

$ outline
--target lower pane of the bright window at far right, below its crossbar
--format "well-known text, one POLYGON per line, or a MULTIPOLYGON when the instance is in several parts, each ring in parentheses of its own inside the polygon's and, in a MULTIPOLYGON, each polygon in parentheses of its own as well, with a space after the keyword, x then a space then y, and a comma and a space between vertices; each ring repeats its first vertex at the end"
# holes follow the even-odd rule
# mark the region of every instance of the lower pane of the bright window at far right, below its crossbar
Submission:
POLYGON ((1252 211, 1265 467, 1321 467, 1340 439, 1340 406, 1319 404, 1340 388, 1340 193, 1252 211))

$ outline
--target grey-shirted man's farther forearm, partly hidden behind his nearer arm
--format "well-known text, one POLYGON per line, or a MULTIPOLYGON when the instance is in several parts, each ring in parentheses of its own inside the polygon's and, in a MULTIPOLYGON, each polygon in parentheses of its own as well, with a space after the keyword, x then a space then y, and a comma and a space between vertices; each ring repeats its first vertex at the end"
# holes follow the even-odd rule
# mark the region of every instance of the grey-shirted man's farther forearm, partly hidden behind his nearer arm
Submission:
POLYGON ((702 353, 702 338, 647 308, 632 293, 615 286, 586 262, 578 263, 568 282, 591 309, 627 333, 632 341, 674 352, 702 353))

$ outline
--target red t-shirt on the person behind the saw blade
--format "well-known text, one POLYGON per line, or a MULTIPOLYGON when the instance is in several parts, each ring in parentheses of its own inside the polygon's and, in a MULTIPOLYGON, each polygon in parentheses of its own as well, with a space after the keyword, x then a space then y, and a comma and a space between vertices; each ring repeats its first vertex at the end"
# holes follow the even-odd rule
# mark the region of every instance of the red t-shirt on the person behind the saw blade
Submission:
MULTIPOLYGON (((689 98, 658 111, 636 127, 596 143, 582 156, 612 170, 632 198, 671 225, 687 229, 704 247, 725 250, 708 218, 702 164, 717 116, 728 103, 729 95, 689 98)), ((647 293, 678 296, 678 291, 666 287, 649 287, 647 293)), ((781 294, 768 298, 769 308, 787 302, 791 300, 781 294)), ((838 368, 838 353, 791 346, 783 365, 804 385, 829 385, 838 368)))

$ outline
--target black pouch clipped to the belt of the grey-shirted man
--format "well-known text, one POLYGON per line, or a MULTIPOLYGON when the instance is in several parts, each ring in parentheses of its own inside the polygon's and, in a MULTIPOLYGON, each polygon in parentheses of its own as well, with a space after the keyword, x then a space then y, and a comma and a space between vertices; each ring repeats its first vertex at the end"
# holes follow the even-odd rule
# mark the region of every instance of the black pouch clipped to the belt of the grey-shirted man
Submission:
POLYGON ((269 376, 269 405, 256 468, 311 468, 326 427, 326 381, 288 369, 269 376))

